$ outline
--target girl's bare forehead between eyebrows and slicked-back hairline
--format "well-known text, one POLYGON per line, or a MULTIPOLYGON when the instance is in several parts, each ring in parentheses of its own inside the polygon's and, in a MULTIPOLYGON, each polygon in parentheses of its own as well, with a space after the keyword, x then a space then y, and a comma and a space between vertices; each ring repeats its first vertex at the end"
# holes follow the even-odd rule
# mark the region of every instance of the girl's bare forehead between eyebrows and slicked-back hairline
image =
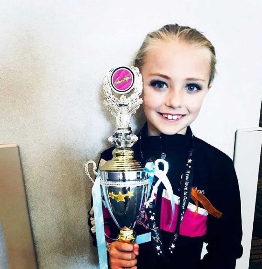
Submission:
POLYGON ((152 44, 146 52, 144 75, 162 73, 172 78, 197 77, 208 80, 210 51, 196 45, 169 41, 152 44))

